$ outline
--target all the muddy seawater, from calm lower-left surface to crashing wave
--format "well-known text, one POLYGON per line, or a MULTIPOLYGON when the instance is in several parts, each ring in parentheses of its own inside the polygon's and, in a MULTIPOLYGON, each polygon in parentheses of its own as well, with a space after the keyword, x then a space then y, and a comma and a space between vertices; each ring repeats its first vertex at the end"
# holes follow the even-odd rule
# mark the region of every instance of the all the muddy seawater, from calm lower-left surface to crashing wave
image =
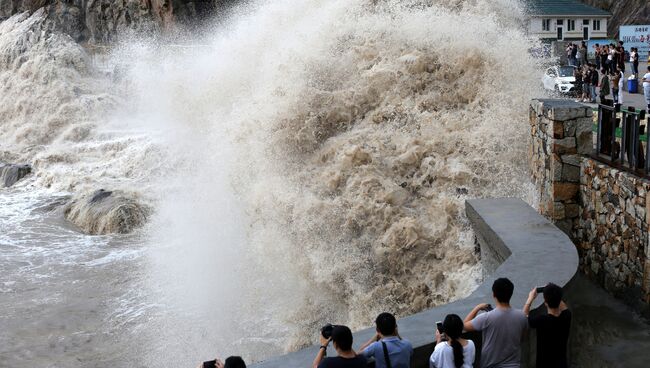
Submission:
POLYGON ((531 192, 523 17, 261 1, 101 55, 41 12, 0 23, 0 162, 34 167, 0 188, 0 366, 256 361, 469 294, 464 200, 531 192), (66 203, 98 189, 147 224, 83 234, 66 203))

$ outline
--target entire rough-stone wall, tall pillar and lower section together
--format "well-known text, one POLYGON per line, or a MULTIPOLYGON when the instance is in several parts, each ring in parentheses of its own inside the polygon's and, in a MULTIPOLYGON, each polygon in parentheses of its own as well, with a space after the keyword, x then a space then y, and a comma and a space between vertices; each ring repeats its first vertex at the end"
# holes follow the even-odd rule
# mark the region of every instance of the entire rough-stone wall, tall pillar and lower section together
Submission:
POLYGON ((578 247, 580 270, 650 312, 650 181, 591 158, 591 108, 567 100, 530 106, 531 176, 539 211, 578 247))

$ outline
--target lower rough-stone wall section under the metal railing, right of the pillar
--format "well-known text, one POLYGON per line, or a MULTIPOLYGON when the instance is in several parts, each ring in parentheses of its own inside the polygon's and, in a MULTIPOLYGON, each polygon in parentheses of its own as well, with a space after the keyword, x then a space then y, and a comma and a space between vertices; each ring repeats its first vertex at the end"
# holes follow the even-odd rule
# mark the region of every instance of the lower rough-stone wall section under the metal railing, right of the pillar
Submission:
POLYGON ((581 213, 573 234, 580 269, 633 305, 650 303, 648 192, 648 180, 591 158, 582 161, 581 213))

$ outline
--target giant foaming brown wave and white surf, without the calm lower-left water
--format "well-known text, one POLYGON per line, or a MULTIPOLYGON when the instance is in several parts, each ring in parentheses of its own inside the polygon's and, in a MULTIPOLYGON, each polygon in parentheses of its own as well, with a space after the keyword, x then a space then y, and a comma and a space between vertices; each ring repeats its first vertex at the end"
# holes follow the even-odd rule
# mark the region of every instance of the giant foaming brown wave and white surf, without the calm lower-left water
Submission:
MULTIPOLYGON (((198 205, 227 135, 250 218, 246 277, 282 264, 300 279, 291 307, 274 309, 288 350, 323 321, 359 328, 468 294, 480 272, 464 200, 528 193, 526 106, 539 89, 518 1, 276 1, 198 55, 123 45, 115 58, 130 67, 110 83, 44 17, 0 24, 0 161, 33 163, 37 185, 75 193, 75 223, 110 233, 97 222, 120 211, 93 212, 97 189, 141 208, 140 223, 171 200, 170 182, 202 193, 198 205), (194 138, 104 129, 120 109, 160 109, 149 116, 194 138)), ((153 216, 150 231, 190 221, 153 216)))

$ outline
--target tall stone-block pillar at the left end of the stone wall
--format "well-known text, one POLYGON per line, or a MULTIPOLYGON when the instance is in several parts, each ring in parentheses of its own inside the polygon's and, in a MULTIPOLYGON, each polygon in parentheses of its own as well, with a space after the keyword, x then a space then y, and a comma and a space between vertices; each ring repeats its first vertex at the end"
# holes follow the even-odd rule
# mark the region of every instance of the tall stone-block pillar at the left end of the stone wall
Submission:
POLYGON ((581 155, 591 152, 593 112, 566 100, 533 100, 528 158, 540 212, 571 234, 580 208, 581 155))

